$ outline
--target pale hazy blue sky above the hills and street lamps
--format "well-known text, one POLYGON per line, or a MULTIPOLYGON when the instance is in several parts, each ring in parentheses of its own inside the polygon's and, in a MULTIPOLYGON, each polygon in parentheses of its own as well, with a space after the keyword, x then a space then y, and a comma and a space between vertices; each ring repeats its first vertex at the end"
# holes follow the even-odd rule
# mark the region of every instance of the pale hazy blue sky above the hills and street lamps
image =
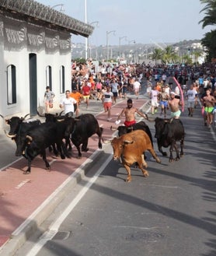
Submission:
MULTIPOLYGON (((215 29, 202 29, 200 0, 37 0, 44 5, 64 5, 64 14, 95 26, 92 45, 176 43, 200 40, 215 29), (86 3, 86 5, 85 5, 86 3), (86 8, 85 8, 86 6, 86 8), (86 11, 86 15, 85 15, 86 11), (96 26, 96 22, 99 26, 96 26), (115 33, 111 32, 115 31, 115 33)), ((60 10, 61 6, 54 7, 60 10)), ((85 44, 85 37, 72 35, 72 42, 85 44)))

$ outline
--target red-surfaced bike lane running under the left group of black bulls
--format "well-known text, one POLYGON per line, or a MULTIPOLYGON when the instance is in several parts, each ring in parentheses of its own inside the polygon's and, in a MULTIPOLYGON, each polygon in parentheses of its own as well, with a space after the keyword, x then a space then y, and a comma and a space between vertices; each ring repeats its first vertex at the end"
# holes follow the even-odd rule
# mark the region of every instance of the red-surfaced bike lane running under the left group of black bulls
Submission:
MULTIPOLYGON (((145 99, 134 100, 134 107, 141 108, 147 101, 145 99)), ((126 106, 126 100, 120 100, 115 104, 111 110, 111 121, 107 121, 106 113, 96 115, 99 125, 103 127, 103 140, 111 138, 113 131, 110 130, 110 126, 117 127, 115 124, 117 115, 126 106)), ((124 117, 122 117, 121 124, 123 121, 124 117)), ((51 171, 45 170, 44 161, 37 156, 33 160, 31 173, 28 175, 23 174, 23 170, 27 168, 27 161, 24 158, 0 172, 0 249, 9 240, 22 233, 24 226, 30 225, 26 220, 33 221, 37 213, 43 211, 41 205, 54 201, 56 204, 61 202, 63 194, 61 197, 57 194, 61 191, 61 186, 64 189, 63 184, 68 179, 71 180, 80 167, 85 168, 92 156, 98 155, 100 150, 103 150, 97 149, 98 136, 92 135, 89 138, 89 151, 82 153, 82 159, 77 158, 78 152, 75 147, 72 149, 71 159, 65 160, 61 160, 60 157, 47 151, 47 160, 51 163, 51 171)), ((35 221, 37 226, 45 218, 46 216, 40 216, 40 219, 35 221)))

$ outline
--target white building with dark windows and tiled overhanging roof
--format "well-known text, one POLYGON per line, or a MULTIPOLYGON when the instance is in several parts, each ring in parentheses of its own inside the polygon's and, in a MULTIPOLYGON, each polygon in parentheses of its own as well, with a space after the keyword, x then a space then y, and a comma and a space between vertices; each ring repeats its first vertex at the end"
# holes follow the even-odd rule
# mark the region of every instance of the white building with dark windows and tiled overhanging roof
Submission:
POLYGON ((71 33, 89 37, 92 31, 93 26, 33 0, 1 1, 0 114, 37 114, 46 86, 57 107, 71 89, 71 33))

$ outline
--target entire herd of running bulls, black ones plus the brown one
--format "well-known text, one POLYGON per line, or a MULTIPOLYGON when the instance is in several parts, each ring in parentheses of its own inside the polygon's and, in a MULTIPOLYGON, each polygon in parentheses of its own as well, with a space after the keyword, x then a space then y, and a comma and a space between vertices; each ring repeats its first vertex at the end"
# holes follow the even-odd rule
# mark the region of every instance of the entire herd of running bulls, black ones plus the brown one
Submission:
MULTIPOLYGON (((0 114, 4 119, 4 117, 0 114)), ((53 151, 57 156, 60 154, 61 159, 71 157, 68 152, 71 149, 71 142, 78 150, 78 158, 82 157, 81 151, 87 152, 88 140, 94 134, 99 138, 99 149, 102 149, 103 128, 92 114, 82 114, 79 117, 65 117, 58 114, 45 114, 44 123, 37 119, 27 119, 26 117, 11 117, 4 119, 9 124, 9 133, 6 135, 16 142, 16 156, 24 156, 28 161, 28 168, 23 174, 30 174, 31 162, 40 155, 42 156, 46 169, 50 169, 47 162, 46 149, 53 151), (82 146, 81 146, 82 145, 82 146), (80 149, 81 147, 81 149, 80 149)), ((159 152, 163 156, 166 153, 162 147, 169 147, 169 162, 179 160, 183 156, 184 128, 179 119, 162 119, 156 117, 155 121, 155 138, 157 139, 159 152), (180 153, 176 142, 180 142, 180 153), (172 151, 176 151, 176 158, 172 156, 172 151)), ((112 127, 111 127, 112 128, 112 127)), ((127 170, 127 181, 131 181, 131 165, 136 165, 141 169, 144 176, 148 176, 145 162, 145 151, 148 150, 155 158, 157 163, 161 163, 153 149, 152 133, 144 121, 133 124, 131 127, 123 125, 117 128, 118 138, 110 140, 113 146, 113 160, 121 160, 127 170)))

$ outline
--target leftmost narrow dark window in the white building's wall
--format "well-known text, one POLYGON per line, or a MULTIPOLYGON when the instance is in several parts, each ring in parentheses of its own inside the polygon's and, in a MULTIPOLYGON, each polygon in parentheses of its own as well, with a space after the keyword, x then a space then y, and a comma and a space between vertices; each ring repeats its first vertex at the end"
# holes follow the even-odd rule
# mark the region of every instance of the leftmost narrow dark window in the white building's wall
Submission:
POLYGON ((7 100, 8 105, 16 103, 16 66, 7 67, 7 100))

